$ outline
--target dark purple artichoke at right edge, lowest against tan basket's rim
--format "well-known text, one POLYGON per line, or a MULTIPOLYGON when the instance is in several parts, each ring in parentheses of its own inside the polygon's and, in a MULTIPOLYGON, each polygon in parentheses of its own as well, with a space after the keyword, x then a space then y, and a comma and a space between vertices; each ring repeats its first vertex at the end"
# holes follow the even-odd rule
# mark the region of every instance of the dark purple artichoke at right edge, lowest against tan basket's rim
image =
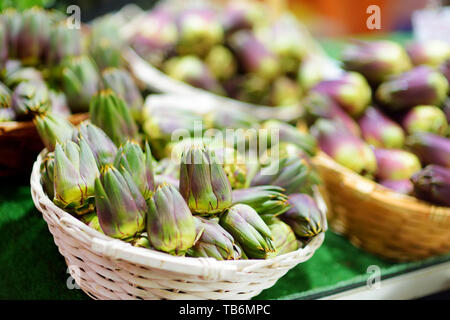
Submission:
POLYGON ((416 197, 431 203, 450 206, 450 169, 429 165, 417 172, 411 181, 416 197))

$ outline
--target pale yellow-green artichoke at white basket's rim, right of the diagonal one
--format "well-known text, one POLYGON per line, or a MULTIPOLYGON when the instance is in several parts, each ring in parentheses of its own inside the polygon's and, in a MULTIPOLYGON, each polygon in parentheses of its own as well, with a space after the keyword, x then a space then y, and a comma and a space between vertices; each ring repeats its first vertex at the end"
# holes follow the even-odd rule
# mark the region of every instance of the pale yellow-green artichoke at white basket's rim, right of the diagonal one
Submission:
POLYGON ((277 218, 267 219, 266 223, 272 232, 273 244, 277 256, 295 251, 299 248, 295 233, 289 225, 277 218))

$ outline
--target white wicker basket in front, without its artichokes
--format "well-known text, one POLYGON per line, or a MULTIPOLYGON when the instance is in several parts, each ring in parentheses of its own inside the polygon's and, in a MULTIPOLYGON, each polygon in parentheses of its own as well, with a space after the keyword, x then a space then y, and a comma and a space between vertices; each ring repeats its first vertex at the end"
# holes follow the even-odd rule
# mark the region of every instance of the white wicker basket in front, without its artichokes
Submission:
MULTIPOLYGON (((105 236, 58 208, 40 183, 41 152, 31 195, 64 256, 71 276, 95 299, 250 299, 314 254, 324 233, 308 245, 269 260, 217 261, 175 257, 105 236)), ((322 212, 326 206, 317 193, 322 212)))

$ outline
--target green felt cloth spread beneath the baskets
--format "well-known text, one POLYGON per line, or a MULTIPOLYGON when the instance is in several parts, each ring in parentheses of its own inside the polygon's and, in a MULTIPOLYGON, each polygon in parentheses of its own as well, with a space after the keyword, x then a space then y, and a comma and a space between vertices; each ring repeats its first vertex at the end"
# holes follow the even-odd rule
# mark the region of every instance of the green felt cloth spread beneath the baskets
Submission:
MULTIPOLYGON (((393 38, 403 42, 408 35, 393 38)), ((323 43, 338 57, 339 40, 323 43)), ((367 268, 377 265, 386 277, 423 265, 449 260, 450 256, 418 263, 394 264, 353 247, 328 231, 325 242, 307 262, 289 271, 258 299, 315 298, 324 293, 357 285, 368 277, 367 268)), ((0 299, 88 299, 71 284, 64 258, 41 214, 34 208, 28 178, 0 180, 0 299), (73 287, 73 286, 71 286, 73 287)))

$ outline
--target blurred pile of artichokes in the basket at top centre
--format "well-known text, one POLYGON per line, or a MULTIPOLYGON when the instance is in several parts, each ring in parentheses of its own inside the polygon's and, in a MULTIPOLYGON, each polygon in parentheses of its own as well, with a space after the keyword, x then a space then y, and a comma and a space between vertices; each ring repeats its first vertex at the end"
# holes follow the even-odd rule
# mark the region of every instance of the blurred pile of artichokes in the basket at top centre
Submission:
POLYGON ((194 87, 241 101, 298 104, 325 76, 298 21, 259 1, 161 3, 137 26, 129 43, 150 64, 194 87))

